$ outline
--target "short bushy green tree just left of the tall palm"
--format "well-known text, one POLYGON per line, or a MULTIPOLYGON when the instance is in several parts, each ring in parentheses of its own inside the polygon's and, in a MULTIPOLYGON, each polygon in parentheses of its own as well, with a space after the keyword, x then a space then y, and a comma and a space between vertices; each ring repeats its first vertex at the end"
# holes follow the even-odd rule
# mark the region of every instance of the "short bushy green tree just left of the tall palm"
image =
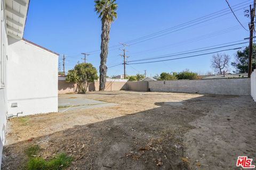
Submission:
POLYGON ((79 92, 86 92, 89 83, 98 78, 97 70, 92 64, 81 63, 68 71, 66 81, 76 83, 79 92))

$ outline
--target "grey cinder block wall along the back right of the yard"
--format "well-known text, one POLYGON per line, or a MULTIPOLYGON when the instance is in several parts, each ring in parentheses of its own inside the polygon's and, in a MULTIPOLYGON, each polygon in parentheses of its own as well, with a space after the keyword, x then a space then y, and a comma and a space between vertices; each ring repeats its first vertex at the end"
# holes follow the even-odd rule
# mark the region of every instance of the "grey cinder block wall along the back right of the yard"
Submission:
POLYGON ((211 79, 150 81, 150 91, 185 92, 213 95, 250 95, 250 79, 211 79))

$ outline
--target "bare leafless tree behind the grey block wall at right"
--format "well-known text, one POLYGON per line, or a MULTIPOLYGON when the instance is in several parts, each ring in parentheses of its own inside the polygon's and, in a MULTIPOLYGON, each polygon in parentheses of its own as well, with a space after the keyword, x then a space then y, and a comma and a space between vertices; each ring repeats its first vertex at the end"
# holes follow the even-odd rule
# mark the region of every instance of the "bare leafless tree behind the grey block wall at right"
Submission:
POLYGON ((215 73, 222 74, 223 69, 228 69, 229 61, 229 55, 217 53, 212 56, 211 66, 215 73))

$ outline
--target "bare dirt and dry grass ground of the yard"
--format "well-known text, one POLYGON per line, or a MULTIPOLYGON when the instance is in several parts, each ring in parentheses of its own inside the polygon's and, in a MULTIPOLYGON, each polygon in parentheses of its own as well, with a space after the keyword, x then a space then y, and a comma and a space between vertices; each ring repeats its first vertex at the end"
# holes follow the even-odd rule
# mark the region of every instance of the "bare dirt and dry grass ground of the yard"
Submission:
MULTIPOLYGON (((249 96, 164 92, 89 92, 119 105, 12 118, 5 169, 23 169, 29 146, 50 159, 65 152, 67 169, 241 169, 256 159, 256 104, 249 96)), ((46 106, 47 107, 47 106, 46 106)), ((256 164, 256 162, 254 162, 256 164)))

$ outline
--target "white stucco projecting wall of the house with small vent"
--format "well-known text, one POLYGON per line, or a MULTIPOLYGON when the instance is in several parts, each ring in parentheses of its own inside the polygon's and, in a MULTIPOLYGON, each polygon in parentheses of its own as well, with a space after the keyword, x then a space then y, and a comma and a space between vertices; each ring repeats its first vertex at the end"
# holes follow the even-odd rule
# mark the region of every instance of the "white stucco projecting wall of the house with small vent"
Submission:
POLYGON ((9 52, 9 114, 58 112, 58 56, 11 37, 9 52), (18 107, 11 107, 12 103, 17 103, 18 107))

